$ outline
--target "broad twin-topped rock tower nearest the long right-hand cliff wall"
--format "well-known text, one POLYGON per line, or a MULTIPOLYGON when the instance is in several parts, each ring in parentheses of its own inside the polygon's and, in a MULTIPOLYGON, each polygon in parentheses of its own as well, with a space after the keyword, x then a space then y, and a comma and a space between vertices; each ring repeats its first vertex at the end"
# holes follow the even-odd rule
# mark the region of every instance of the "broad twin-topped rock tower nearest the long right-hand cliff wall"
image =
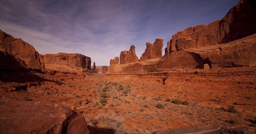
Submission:
POLYGON ((145 49, 145 52, 143 52, 139 61, 162 57, 163 39, 156 39, 153 44, 150 42, 147 42, 146 46, 147 47, 145 49))

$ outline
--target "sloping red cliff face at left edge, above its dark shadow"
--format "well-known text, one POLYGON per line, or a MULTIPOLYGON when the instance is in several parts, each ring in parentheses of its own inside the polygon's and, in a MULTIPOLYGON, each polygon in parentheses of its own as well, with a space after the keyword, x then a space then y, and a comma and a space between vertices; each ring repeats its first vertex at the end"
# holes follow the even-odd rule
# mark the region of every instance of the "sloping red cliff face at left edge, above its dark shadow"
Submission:
POLYGON ((44 70, 40 61, 39 54, 35 48, 22 41, 22 39, 13 38, 11 35, 0 30, 0 50, 6 51, 14 56, 20 65, 31 69, 44 70))

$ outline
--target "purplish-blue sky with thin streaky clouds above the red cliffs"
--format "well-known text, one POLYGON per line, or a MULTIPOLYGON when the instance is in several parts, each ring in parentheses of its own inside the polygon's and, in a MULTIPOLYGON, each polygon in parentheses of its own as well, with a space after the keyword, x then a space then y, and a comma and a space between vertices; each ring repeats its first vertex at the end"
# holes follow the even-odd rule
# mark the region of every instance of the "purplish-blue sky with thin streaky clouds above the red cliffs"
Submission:
POLYGON ((134 44, 221 19, 239 0, 0 0, 0 29, 40 54, 79 53, 96 65, 134 44))

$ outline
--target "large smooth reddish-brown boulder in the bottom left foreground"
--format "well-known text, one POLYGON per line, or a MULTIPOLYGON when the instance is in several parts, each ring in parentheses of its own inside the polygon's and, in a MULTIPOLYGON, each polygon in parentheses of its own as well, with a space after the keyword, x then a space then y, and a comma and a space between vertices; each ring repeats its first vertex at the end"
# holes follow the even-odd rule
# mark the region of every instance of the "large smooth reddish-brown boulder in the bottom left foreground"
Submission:
POLYGON ((2 134, 89 134, 82 114, 50 102, 0 105, 2 134))

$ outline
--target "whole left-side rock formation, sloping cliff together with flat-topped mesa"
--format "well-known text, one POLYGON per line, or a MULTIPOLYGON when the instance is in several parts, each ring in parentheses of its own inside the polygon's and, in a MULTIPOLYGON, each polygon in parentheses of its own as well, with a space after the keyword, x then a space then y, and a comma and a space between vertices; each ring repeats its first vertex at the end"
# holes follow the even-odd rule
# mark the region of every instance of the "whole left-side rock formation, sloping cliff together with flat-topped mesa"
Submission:
MULTIPOLYGON (((96 73, 91 69, 91 58, 82 54, 39 54, 33 45, 16 39, 0 30, 0 60, 1 67, 26 67, 37 71, 64 71, 96 73)), ((95 63, 94 63, 95 65, 95 63)))

